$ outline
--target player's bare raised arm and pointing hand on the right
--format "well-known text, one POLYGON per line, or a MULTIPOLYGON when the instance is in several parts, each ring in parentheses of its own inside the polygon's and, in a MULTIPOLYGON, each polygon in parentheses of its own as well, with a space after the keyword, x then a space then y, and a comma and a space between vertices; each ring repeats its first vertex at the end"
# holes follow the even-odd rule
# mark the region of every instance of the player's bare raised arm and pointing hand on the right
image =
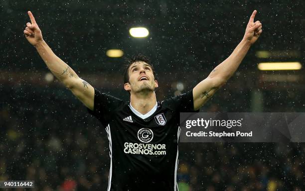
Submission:
POLYGON ((259 38, 262 33, 262 23, 254 22, 256 10, 253 11, 245 35, 242 41, 237 45, 232 54, 219 64, 193 89, 194 110, 198 110, 215 92, 223 86, 237 70, 238 66, 246 56, 249 48, 259 38))

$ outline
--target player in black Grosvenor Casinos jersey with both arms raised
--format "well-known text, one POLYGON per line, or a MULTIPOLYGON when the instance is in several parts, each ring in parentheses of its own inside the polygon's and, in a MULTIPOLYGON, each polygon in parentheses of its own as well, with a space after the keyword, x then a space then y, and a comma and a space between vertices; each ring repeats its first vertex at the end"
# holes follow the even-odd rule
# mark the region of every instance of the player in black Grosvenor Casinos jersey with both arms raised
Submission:
POLYGON ((58 58, 43 40, 30 11, 31 23, 26 23, 24 34, 54 76, 106 127, 111 158, 108 191, 176 191, 179 112, 197 111, 237 70, 262 33, 260 21, 254 22, 256 12, 242 41, 225 61, 192 91, 162 102, 156 101, 158 83, 144 56, 129 62, 124 89, 130 101, 124 102, 100 93, 58 58))

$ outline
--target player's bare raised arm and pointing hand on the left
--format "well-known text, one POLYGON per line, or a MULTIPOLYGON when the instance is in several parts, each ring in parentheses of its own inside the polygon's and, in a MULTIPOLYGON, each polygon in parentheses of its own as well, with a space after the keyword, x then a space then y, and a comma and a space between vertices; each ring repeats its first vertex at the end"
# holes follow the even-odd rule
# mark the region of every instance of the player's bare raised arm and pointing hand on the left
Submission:
POLYGON ((53 75, 62 82, 80 101, 88 108, 93 110, 94 106, 94 88, 86 81, 82 80, 77 74, 60 58, 58 58, 51 48, 42 38, 41 30, 35 21, 31 11, 27 12, 31 23, 27 22, 23 31, 26 39, 32 44, 39 55, 53 73, 53 75))

